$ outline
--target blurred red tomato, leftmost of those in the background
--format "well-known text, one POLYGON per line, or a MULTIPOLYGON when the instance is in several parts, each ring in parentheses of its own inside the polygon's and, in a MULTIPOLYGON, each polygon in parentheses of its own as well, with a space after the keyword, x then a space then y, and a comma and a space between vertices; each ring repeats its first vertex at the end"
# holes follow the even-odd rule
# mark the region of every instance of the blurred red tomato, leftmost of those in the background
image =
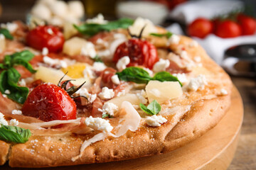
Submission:
POLYGON ((205 38, 213 32, 213 23, 206 18, 197 18, 188 26, 188 35, 205 38))

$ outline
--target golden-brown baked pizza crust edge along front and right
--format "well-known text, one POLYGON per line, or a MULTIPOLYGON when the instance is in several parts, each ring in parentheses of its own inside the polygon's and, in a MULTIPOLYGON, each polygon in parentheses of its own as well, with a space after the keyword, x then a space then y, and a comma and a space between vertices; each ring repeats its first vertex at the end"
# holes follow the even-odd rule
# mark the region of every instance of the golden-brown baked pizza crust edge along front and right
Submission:
MULTIPOLYGON (((221 86, 228 91, 228 95, 196 100, 191 104, 188 112, 179 113, 174 117, 169 115, 168 122, 159 128, 143 125, 136 132, 128 131, 122 137, 107 137, 105 140, 95 142, 87 147, 82 157, 75 162, 71 158, 80 154, 80 147, 87 136, 42 137, 33 135, 28 142, 11 147, 9 165, 12 167, 67 166, 146 157, 182 147, 215 127, 228 111, 233 85, 228 74, 213 60, 210 60, 202 47, 188 47, 191 41, 191 38, 181 36, 180 43, 171 45, 171 50, 178 52, 183 45, 186 46, 188 55, 193 57, 200 55, 203 67, 218 77, 216 81, 223 81, 221 86)), ((198 72, 202 70, 199 69, 198 72)), ((205 92, 197 93, 203 95, 205 92)), ((3 143, 7 149, 4 154, 6 157, 9 144, 3 143)))

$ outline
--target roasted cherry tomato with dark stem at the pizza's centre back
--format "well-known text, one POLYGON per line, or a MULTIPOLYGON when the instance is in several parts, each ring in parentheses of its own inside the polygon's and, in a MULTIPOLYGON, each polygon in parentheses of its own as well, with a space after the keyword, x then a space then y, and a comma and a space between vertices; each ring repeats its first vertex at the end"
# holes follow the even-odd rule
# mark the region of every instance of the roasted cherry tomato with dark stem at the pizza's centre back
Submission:
POLYGON ((142 65, 152 69, 154 64, 159 61, 156 47, 139 38, 132 38, 120 44, 114 52, 113 62, 118 62, 124 56, 128 56, 130 59, 128 66, 142 65))

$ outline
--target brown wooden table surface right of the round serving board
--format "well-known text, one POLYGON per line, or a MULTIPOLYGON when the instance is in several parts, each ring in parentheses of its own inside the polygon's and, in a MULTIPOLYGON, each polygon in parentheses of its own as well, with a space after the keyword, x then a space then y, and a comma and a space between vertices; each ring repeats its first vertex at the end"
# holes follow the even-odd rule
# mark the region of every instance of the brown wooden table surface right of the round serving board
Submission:
POLYGON ((228 170, 256 169, 256 79, 232 77, 244 104, 238 149, 228 170))

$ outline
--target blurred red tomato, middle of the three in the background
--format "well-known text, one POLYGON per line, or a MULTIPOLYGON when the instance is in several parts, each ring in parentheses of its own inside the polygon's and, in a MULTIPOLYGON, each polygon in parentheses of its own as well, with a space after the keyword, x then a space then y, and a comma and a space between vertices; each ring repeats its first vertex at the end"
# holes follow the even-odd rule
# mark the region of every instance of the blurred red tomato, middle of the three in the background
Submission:
POLYGON ((235 38, 242 34, 241 27, 234 21, 223 21, 218 23, 215 29, 215 35, 220 38, 235 38))

